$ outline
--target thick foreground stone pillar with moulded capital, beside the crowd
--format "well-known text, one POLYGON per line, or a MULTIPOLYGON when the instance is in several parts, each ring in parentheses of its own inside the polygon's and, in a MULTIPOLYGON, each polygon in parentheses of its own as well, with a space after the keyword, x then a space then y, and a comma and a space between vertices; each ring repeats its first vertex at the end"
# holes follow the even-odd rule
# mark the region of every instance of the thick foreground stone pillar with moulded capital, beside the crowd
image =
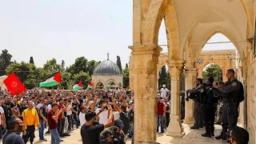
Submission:
POLYGON ((134 57, 134 142, 156 142, 159 46, 130 46, 134 57))

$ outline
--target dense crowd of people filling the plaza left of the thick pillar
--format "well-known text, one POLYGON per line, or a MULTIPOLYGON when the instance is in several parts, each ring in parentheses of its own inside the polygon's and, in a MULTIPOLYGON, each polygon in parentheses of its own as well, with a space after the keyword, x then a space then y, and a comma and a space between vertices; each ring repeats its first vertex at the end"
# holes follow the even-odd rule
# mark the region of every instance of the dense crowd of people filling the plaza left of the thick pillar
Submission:
POLYGON ((11 95, 1 90, 1 128, 3 144, 58 144, 81 126, 83 144, 126 143, 133 138, 134 94, 127 89, 111 90, 27 90, 11 95), (46 134, 51 139, 44 138, 46 134), (21 136, 22 135, 22 136, 21 136))

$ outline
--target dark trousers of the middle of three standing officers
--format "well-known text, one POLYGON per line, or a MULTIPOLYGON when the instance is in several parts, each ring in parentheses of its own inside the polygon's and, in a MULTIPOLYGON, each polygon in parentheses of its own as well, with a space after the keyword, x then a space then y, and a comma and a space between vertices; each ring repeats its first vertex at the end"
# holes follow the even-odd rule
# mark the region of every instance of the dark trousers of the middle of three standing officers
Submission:
POLYGON ((210 132, 214 132, 214 106, 206 106, 205 107, 205 125, 206 125, 206 133, 210 134, 210 132))

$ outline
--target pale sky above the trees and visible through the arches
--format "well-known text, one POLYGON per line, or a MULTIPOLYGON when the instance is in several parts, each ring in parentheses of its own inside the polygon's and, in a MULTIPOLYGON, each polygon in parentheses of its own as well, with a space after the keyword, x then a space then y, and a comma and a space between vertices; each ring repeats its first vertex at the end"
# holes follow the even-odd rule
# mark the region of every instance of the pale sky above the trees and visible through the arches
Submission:
MULTIPOLYGON (((0 0, 0 50, 9 50, 13 60, 37 66, 62 59, 66 66, 75 58, 103 61, 110 53, 122 65, 129 62, 132 45, 132 1, 121 0, 0 0)), ((228 41, 221 34, 210 42, 228 41)), ((164 26, 159 44, 166 44, 164 26)), ((230 49, 233 44, 206 45, 205 50, 230 49)), ((166 52, 166 47, 163 47, 166 52)))

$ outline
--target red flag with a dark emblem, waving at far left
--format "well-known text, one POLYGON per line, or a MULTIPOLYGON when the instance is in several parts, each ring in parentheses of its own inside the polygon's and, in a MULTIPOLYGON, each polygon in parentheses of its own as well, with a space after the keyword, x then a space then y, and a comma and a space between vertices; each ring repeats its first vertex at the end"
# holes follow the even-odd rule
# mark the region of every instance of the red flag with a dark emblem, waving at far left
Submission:
POLYGON ((22 84, 14 72, 10 73, 10 75, 3 82, 13 95, 21 94, 22 92, 26 91, 26 87, 22 84))

